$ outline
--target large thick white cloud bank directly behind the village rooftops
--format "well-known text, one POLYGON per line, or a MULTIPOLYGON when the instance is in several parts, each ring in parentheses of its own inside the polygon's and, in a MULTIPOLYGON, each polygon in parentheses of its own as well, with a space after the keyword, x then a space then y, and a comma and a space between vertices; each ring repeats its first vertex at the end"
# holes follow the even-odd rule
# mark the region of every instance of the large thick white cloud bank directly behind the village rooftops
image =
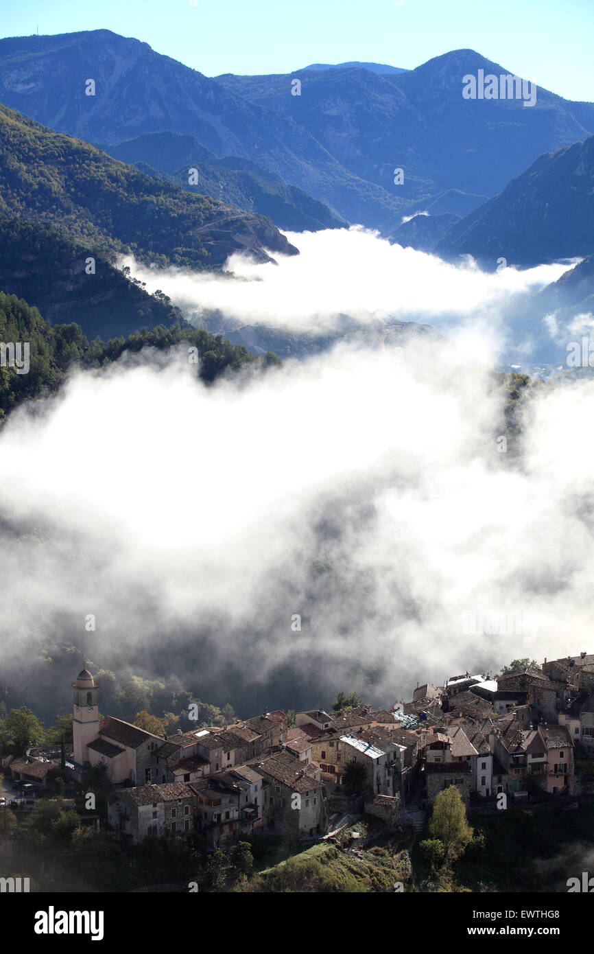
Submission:
POLYGON ((181 639, 185 683, 239 667, 225 698, 263 683, 291 706, 299 680, 297 705, 317 704, 357 667, 379 670, 388 704, 418 679, 588 650, 594 384, 535 398, 502 454, 479 335, 341 346, 213 387, 182 349, 78 374, 45 414, 13 414, 3 516, 44 543, 4 541, 2 652, 60 616, 83 638, 94 613, 95 656, 137 672, 181 639), (493 632, 497 613, 530 626, 493 632))

